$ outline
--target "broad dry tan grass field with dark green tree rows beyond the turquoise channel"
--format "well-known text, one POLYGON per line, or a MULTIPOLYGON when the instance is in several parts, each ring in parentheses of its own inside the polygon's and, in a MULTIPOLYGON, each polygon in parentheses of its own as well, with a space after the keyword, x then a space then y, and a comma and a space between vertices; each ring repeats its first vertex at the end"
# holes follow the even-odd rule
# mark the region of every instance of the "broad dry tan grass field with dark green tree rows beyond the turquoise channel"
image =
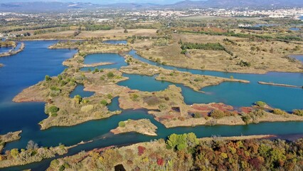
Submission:
POLYGON ((301 43, 285 43, 282 41, 251 41, 248 38, 230 36, 207 36, 202 34, 174 34, 168 46, 154 46, 152 41, 137 40, 134 48, 144 58, 159 63, 184 68, 196 68, 210 71, 228 71, 237 73, 266 73, 268 71, 302 72, 300 61, 292 61, 287 56, 302 54, 301 43), (228 38, 230 41, 224 41, 228 38), (181 54, 178 41, 191 43, 220 43, 233 56, 225 51, 188 50, 188 55, 181 54), (250 66, 238 65, 240 61, 250 66))

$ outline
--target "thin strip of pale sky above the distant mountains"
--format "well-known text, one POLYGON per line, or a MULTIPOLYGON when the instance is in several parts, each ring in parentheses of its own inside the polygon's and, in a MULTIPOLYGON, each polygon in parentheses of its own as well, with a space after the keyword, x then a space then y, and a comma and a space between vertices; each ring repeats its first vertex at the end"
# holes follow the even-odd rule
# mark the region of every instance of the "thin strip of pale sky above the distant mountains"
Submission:
MULTIPOLYGON (((21 1, 63 1, 63 2, 91 2, 93 4, 115 4, 115 3, 153 3, 153 4, 174 4, 183 0, 0 0, 1 3, 21 1)), ((199 1, 199 0, 192 0, 199 1)), ((201 1, 201 0, 200 0, 201 1)))

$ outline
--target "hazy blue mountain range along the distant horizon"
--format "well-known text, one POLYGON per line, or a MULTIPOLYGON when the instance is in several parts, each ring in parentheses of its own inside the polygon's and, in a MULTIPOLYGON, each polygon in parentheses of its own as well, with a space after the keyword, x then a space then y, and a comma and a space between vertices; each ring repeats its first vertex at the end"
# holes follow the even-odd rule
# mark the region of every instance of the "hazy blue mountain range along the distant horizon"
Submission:
POLYGON ((228 7, 302 7, 303 0, 208 0, 208 1, 180 1, 176 4, 159 5, 159 4, 136 4, 136 3, 119 3, 110 5, 100 5, 91 3, 64 3, 59 1, 31 1, 19 3, 1 3, 1 11, 66 11, 73 9, 186 9, 186 8, 228 8, 228 7))

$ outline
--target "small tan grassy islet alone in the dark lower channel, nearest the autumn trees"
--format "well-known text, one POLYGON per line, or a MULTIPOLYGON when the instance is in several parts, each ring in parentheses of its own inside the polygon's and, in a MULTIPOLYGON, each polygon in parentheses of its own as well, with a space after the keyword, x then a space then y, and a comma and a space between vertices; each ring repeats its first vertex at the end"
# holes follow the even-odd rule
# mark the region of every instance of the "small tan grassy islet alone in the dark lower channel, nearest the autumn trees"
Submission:
POLYGON ((125 120, 119 122, 119 126, 110 130, 110 132, 115 135, 120 133, 137 132, 144 135, 156 136, 156 129, 157 127, 152 124, 149 119, 125 120))

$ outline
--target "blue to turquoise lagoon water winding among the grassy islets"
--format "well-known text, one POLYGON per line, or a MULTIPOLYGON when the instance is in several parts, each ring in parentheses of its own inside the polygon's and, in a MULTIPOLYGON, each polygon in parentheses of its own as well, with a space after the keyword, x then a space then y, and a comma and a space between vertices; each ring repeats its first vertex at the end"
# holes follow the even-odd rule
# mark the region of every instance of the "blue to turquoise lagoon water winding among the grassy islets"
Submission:
MULTIPOLYGON (((55 146, 59 143, 65 145, 75 145, 80 141, 94 140, 85 145, 79 145, 71 149, 68 155, 73 155, 81 150, 92 150, 96 147, 106 147, 109 145, 127 145, 135 142, 144 142, 159 138, 166 138, 172 133, 196 133, 198 137, 211 135, 231 136, 231 135, 257 135, 257 134, 303 134, 302 122, 286 123, 260 123, 257 125, 238 126, 197 126, 188 128, 165 128, 161 123, 156 122, 146 110, 123 110, 121 115, 114 115, 103 120, 93 120, 71 127, 54 127, 48 130, 40 130, 38 123, 47 117, 44 113, 44 103, 13 103, 11 100, 21 92, 23 88, 33 86, 42 81, 45 75, 56 76, 64 70, 62 62, 71 58, 76 53, 75 50, 50 50, 47 47, 56 41, 26 41, 26 48, 21 53, 14 56, 0 58, 0 63, 5 66, 0 68, 0 134, 10 131, 23 130, 21 140, 11 142, 4 150, 18 147, 24 148, 29 140, 33 140, 41 146, 55 146), (149 137, 137 133, 125 133, 122 135, 112 135, 111 129, 116 128, 119 121, 127 119, 149 118, 158 127, 156 137, 149 137)), ((267 73, 238 74, 221 73, 215 71, 188 70, 171 66, 162 66, 152 61, 148 61, 137 56, 135 51, 129 52, 135 58, 161 66, 168 69, 188 71, 196 74, 211 76, 223 76, 245 79, 251 81, 245 83, 222 83, 219 86, 203 88, 206 93, 198 93, 191 88, 176 84, 182 88, 182 94, 187 104, 223 102, 235 106, 249 106, 256 100, 264 100, 275 108, 282 108, 290 111, 294 108, 303 108, 303 90, 300 88, 281 88, 264 86, 257 84, 257 81, 274 81, 275 83, 288 83, 292 85, 303 85, 302 73, 267 73)), ((90 55, 85 58, 85 63, 113 62, 111 67, 126 66, 124 58, 113 53, 101 53, 90 55)), ((115 68, 114 67, 114 68, 115 68)), ((87 68, 83 68, 85 71, 87 68)), ((119 83, 120 86, 145 91, 164 90, 173 84, 165 81, 156 81, 153 76, 139 76, 124 74, 129 80, 119 83)), ((93 95, 92 92, 83 91, 83 86, 78 86, 70 97, 80 94, 85 97, 93 95)), ((112 111, 121 110, 118 99, 114 98, 108 106, 112 111)), ((6 170, 23 170, 31 168, 33 170, 44 170, 48 167, 50 160, 33 163, 22 167, 11 167, 6 170)))

